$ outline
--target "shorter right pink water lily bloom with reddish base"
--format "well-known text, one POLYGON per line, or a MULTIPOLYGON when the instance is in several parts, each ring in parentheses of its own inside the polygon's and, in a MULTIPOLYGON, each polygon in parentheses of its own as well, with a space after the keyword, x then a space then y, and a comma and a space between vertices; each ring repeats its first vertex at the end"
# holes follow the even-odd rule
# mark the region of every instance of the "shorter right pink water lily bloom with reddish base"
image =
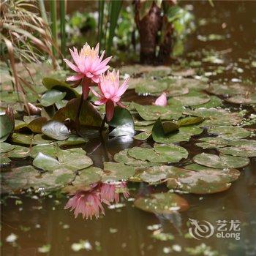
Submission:
POLYGON ((113 118, 114 107, 115 105, 120 106, 121 108, 126 108, 121 104, 121 95, 128 88, 129 77, 124 80, 124 83, 119 86, 119 71, 113 69, 112 72, 107 73, 107 75, 101 75, 99 78, 99 94, 97 91, 91 88, 92 93, 99 99, 94 102, 95 105, 105 104, 105 113, 107 121, 110 121, 113 118))

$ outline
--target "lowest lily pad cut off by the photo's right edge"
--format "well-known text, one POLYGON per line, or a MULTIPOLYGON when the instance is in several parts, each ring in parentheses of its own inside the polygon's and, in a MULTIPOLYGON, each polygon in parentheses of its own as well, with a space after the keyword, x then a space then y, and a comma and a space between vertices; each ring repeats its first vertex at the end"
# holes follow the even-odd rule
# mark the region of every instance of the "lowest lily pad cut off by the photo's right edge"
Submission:
POLYGON ((235 157, 256 157, 255 140, 231 140, 228 147, 220 148, 222 154, 230 154, 235 157))

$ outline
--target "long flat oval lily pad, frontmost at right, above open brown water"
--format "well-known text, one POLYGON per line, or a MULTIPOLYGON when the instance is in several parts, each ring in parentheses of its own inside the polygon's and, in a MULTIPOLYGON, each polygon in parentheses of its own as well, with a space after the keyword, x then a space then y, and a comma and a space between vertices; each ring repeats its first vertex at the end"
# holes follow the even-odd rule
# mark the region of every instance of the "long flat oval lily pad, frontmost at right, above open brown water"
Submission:
POLYGON ((199 165, 213 167, 217 169, 222 168, 240 168, 249 165, 249 159, 246 157, 233 157, 220 154, 201 153, 193 157, 193 161, 199 165))

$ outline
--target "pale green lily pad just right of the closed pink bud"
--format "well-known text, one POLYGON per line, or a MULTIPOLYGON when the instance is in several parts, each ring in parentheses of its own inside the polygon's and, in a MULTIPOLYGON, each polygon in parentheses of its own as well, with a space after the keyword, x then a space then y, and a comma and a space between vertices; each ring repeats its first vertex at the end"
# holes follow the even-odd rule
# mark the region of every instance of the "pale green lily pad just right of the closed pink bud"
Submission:
POLYGON ((198 91, 189 92, 189 94, 174 97, 174 99, 182 102, 184 106, 194 106, 207 103, 211 98, 207 94, 200 93, 198 91))

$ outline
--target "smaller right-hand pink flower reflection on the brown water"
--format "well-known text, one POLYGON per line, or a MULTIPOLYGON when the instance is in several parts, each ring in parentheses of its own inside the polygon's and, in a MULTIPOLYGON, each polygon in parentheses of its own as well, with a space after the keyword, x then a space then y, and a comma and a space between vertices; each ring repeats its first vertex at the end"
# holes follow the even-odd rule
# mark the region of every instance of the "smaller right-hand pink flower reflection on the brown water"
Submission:
POLYGON ((119 202, 119 191, 123 193, 125 198, 129 197, 129 192, 127 191, 127 185, 125 182, 119 184, 107 184, 102 183, 99 188, 100 198, 103 203, 110 204, 114 201, 119 202))

